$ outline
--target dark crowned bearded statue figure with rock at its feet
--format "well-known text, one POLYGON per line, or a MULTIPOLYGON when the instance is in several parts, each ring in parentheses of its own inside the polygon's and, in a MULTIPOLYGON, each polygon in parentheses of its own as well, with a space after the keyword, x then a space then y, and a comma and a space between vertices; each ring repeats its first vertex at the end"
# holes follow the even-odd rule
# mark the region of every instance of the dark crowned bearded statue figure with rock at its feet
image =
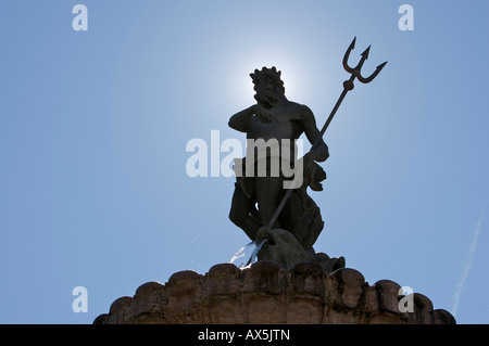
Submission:
MULTIPOLYGON (((255 144, 250 148, 251 142, 248 141, 247 157, 235 161, 237 182, 229 218, 252 241, 267 239, 259 259, 274 260, 287 268, 297 261, 313 260, 311 256, 316 258, 318 255, 312 246, 323 230, 324 221, 319 208, 308 195, 306 188, 323 190, 321 182, 326 179, 326 174, 316 162, 328 158, 328 146, 322 139, 311 110, 287 100, 280 72, 276 67, 255 69, 250 76, 256 92, 256 104, 231 116, 229 126, 246 132, 247 139, 253 140, 255 144), (298 161, 294 140, 302 133, 311 144, 317 145, 298 161), (256 144, 260 139, 269 146, 260 148, 256 144), (271 140, 277 140, 278 148, 272 148, 271 140), (284 142, 288 144, 280 145, 284 142), (260 156, 260 151, 264 153, 263 156, 260 156), (262 174, 260 164, 265 166, 262 174), (275 175, 274 164, 280 167, 275 175), (281 167, 290 167, 293 178, 299 176, 303 179, 299 188, 293 189, 273 227, 267 228, 286 191, 284 182, 287 178, 281 167), (298 170, 302 168, 303 171, 298 170)), ((319 257, 324 260, 325 256, 321 254, 319 257)), ((342 258, 328 264, 329 270, 341 266, 344 266, 342 258)))

